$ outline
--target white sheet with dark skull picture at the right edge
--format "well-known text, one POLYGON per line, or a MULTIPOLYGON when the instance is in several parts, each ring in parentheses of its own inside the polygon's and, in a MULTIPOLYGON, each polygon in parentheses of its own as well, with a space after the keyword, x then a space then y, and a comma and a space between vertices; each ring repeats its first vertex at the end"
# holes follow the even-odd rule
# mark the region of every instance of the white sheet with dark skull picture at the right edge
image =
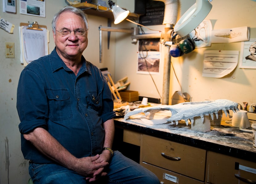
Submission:
POLYGON ((256 38, 241 44, 239 68, 256 69, 256 38))

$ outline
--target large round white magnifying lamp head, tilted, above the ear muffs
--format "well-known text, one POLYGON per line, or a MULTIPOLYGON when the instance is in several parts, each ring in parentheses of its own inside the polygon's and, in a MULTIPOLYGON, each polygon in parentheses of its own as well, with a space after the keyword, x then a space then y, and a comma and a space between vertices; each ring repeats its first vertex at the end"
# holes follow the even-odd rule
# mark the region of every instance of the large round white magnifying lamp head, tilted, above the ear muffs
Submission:
POLYGON ((196 0, 174 26, 174 32, 181 37, 188 35, 198 26, 212 9, 212 0, 196 0))

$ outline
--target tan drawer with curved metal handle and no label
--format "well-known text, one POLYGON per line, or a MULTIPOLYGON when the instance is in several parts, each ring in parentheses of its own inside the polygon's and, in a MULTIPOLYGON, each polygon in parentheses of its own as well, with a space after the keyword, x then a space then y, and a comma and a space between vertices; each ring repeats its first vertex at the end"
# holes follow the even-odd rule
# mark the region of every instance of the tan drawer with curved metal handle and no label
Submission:
POLYGON ((204 181, 206 150, 149 135, 143 135, 142 140, 140 164, 150 163, 204 181), (163 154, 178 160, 171 160, 163 154))

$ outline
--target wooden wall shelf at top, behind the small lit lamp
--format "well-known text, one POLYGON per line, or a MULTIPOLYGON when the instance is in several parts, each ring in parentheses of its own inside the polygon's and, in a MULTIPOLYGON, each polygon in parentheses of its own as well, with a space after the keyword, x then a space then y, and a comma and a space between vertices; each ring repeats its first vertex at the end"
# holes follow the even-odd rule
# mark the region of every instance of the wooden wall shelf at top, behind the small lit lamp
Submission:
MULTIPOLYGON (((100 17, 106 17, 108 19, 114 19, 114 15, 111 10, 108 10, 108 7, 105 6, 97 6, 95 4, 87 3, 87 2, 81 2, 78 4, 72 5, 76 8, 80 8, 88 15, 96 15, 100 17)), ((128 15, 129 18, 138 18, 139 15, 135 13, 130 13, 128 15)))

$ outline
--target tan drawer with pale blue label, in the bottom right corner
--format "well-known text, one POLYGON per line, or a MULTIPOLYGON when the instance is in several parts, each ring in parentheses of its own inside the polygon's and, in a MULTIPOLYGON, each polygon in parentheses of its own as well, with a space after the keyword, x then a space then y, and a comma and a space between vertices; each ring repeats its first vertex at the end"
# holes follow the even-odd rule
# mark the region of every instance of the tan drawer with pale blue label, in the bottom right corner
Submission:
POLYGON ((212 184, 246 184, 242 178, 256 181, 256 163, 226 156, 216 152, 207 153, 206 182, 212 184), (240 169, 239 169, 240 167, 240 169), (235 177, 238 174, 241 179, 235 177))

